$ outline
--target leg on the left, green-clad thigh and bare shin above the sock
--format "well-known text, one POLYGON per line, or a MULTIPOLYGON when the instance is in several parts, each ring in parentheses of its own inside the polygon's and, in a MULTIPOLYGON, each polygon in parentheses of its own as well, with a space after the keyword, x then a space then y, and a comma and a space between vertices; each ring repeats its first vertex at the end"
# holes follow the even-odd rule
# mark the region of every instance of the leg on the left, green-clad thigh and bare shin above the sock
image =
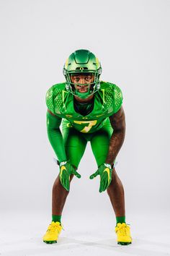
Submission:
MULTIPOLYGON (((71 161, 71 164, 78 168, 79 162, 84 155, 84 150, 86 148, 86 140, 81 136, 80 132, 76 131, 72 127, 63 128, 63 140, 66 149, 67 158, 71 161)), ((71 175, 70 181, 73 179, 71 175)), ((63 188, 59 176, 55 179, 53 184, 52 193, 52 214, 61 216, 63 207, 66 202, 66 197, 68 196, 68 191, 63 188)))

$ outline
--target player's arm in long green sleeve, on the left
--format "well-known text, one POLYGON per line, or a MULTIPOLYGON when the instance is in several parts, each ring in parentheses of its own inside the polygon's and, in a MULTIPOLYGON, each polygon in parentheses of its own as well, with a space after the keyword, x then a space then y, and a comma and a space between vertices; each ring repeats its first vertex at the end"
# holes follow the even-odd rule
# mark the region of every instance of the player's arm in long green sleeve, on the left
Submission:
POLYGON ((51 116, 47 112, 47 132, 50 145, 52 146, 58 161, 66 160, 66 152, 63 144, 63 136, 59 128, 61 120, 51 116))

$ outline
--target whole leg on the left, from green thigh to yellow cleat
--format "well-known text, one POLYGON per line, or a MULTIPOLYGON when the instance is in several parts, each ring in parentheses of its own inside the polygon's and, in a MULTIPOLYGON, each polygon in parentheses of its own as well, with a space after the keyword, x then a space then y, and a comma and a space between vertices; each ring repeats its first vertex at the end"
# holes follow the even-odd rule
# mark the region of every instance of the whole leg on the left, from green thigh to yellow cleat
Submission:
MULTIPOLYGON (((86 148, 86 140, 81 137, 80 132, 77 132, 72 127, 67 125, 63 128, 63 142, 66 149, 67 159, 71 161, 71 164, 78 168, 79 162, 84 154, 86 148)), ((70 176, 70 181, 73 179, 73 175, 70 176)), ((43 236, 43 242, 47 244, 53 244, 58 241, 58 235, 61 233, 61 213, 66 202, 68 191, 61 185, 59 176, 55 179, 53 184, 52 194, 52 222, 48 226, 48 230, 43 236)))

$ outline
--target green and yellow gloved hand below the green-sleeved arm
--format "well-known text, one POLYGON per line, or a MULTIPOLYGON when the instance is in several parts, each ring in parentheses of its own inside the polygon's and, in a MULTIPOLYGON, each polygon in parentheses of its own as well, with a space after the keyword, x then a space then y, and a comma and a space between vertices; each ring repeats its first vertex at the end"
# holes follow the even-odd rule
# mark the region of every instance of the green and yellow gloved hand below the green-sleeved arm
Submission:
POLYGON ((60 174, 59 178, 62 186, 69 191, 70 189, 70 175, 74 174, 77 178, 81 178, 81 175, 76 171, 69 161, 63 161, 59 164, 60 174))

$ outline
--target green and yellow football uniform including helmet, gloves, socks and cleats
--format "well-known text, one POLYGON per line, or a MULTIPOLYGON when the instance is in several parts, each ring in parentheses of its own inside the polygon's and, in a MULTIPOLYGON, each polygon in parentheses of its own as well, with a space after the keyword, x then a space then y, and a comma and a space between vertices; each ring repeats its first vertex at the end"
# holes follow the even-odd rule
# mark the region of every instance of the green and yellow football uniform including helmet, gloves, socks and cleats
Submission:
MULTIPOLYGON (((101 82, 100 74, 102 66, 93 53, 85 49, 74 51, 63 67, 66 82, 53 85, 46 95, 48 138, 59 161, 59 179, 67 191, 70 188, 71 174, 81 177, 76 168, 88 141, 91 142, 98 166, 97 171, 89 178, 100 176, 99 192, 104 192, 112 180, 113 168, 111 164, 106 163, 113 132, 109 116, 120 110, 122 92, 115 84, 101 82), (78 77, 77 80, 73 79, 75 76, 78 77), (84 77, 88 76, 91 78, 85 80, 84 77), (82 87, 86 90, 81 90, 82 87), (90 97, 91 101, 88 101, 91 95, 94 97, 90 97), (87 100, 80 103, 76 98, 87 100)), ((125 224, 125 216, 117 216, 115 231, 119 244, 132 242, 130 228, 125 224)), ((60 232, 61 215, 52 215, 52 223, 43 236, 43 241, 57 242, 60 232)))

